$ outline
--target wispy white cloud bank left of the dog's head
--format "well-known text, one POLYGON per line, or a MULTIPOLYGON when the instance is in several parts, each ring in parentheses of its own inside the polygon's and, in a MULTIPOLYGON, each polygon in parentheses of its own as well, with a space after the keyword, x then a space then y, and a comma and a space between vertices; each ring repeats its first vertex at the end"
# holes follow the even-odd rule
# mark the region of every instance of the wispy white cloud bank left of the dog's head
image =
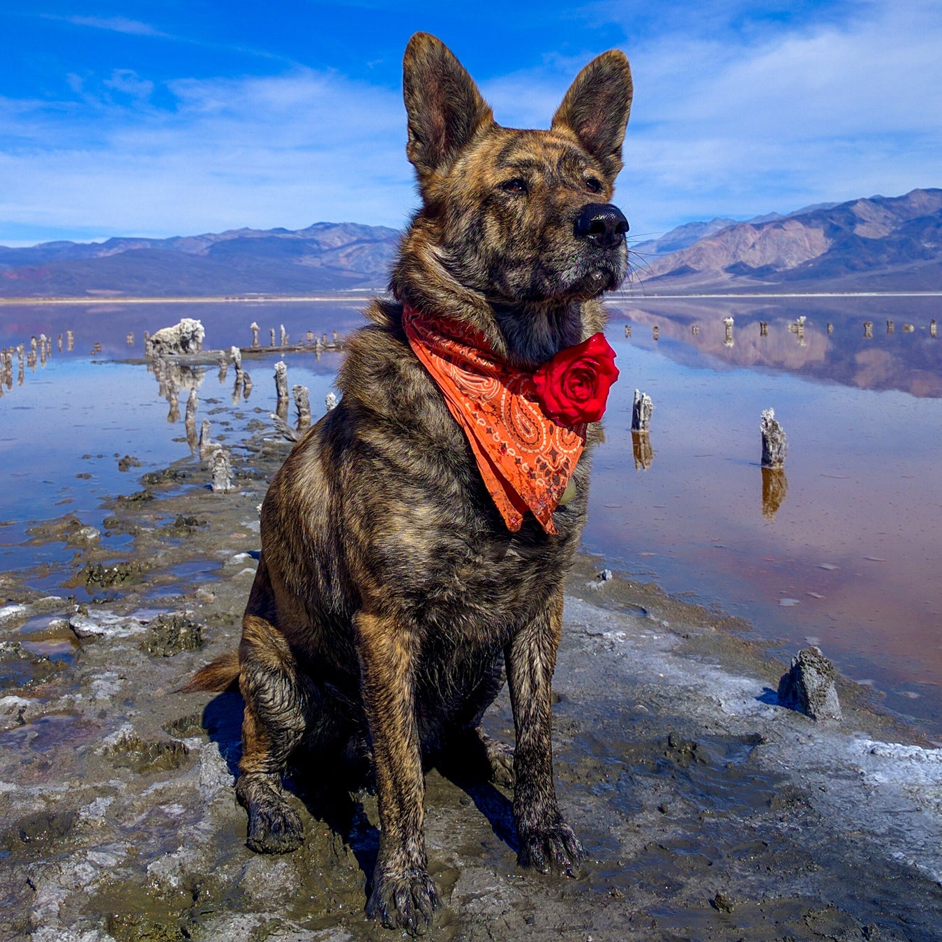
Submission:
POLYGON ((0 101, 15 148, 0 153, 0 219, 103 235, 176 235, 317 220, 403 224, 414 203, 397 93, 298 70, 181 80, 143 101, 136 73, 81 104, 0 101))

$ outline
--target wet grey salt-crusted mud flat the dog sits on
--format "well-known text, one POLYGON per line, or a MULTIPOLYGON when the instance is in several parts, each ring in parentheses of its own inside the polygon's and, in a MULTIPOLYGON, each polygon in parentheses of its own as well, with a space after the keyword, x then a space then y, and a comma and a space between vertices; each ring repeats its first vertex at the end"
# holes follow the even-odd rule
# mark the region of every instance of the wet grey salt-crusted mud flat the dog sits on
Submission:
MULTIPOLYGON (((99 593, 84 605, 0 576, 3 942, 394 937, 363 915, 375 798, 300 760, 304 846, 252 853, 241 701, 173 692, 235 647, 287 447, 236 451, 227 495, 207 463, 141 480, 106 519, 133 537, 121 559, 49 528, 99 593)), ((511 793, 433 768, 428 937, 942 936, 942 750, 851 684, 839 724, 780 706, 785 665, 738 625, 601 568, 583 558, 569 580, 554 707, 560 803, 589 859, 568 880, 517 869, 511 793)), ((506 694, 486 723, 512 740, 506 694)))

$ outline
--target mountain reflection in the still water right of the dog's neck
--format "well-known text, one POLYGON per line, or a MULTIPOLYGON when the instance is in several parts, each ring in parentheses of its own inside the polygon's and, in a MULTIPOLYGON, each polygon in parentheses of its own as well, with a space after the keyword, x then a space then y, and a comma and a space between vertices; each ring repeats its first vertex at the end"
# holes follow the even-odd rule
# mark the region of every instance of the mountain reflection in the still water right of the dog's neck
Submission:
POLYGON ((633 325, 636 343, 653 345, 658 327, 661 351, 687 365, 762 367, 858 389, 942 397, 942 337, 930 327, 933 318, 942 319, 940 298, 638 300, 613 303, 610 312, 613 323, 625 318, 633 325), (731 337, 727 317, 734 321, 731 337))

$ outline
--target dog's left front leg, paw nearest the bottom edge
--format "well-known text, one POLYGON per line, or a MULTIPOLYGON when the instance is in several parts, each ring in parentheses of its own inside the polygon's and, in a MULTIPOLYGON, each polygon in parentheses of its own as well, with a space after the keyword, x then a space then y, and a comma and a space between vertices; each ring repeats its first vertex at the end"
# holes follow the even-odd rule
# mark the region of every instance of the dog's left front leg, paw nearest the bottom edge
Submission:
POLYGON ((356 614, 353 626, 382 824, 366 916, 415 933, 438 905, 423 833, 425 779, 414 692, 417 639, 410 627, 365 611, 356 614))

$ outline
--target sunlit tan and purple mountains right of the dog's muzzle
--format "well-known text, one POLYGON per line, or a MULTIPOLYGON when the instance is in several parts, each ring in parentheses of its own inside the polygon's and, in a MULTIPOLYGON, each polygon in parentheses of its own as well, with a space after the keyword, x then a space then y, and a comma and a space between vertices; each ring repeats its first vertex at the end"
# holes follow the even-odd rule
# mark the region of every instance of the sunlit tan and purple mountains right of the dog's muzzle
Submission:
POLYGON ((636 265, 647 294, 939 290, 942 189, 738 222, 636 265))

